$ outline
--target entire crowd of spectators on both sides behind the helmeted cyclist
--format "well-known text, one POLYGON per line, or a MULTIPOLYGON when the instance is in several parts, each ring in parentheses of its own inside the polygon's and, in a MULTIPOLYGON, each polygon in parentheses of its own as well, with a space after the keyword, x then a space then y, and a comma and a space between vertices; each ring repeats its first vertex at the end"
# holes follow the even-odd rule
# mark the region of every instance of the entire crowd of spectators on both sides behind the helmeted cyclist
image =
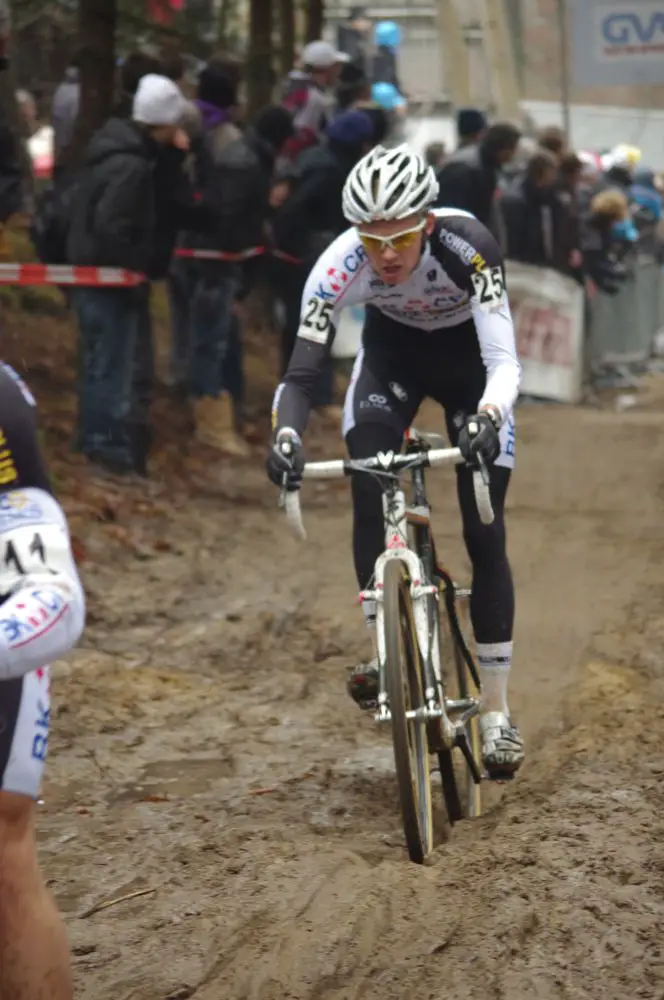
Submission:
MULTIPOLYGON (((69 295, 79 331, 75 447, 97 469, 147 475, 150 295, 161 280, 170 300, 170 380, 188 400, 196 439, 221 454, 249 454, 243 303, 258 285, 269 289, 285 370, 307 274, 346 228, 341 192, 349 171, 377 143, 402 137, 399 43, 398 25, 379 22, 372 33, 364 10, 353 8, 338 47, 308 43, 275 103, 250 121, 233 58, 212 58, 188 81, 181 60, 134 53, 119 69, 113 114, 75 165, 68 153, 80 81, 77 67, 68 69, 53 98, 57 159, 53 184, 37 202, 38 255, 145 279, 69 295)), ((34 118, 25 95, 23 105, 26 121, 34 118)), ((472 212, 505 257, 611 294, 637 242, 658 252, 659 181, 641 168, 638 150, 574 152, 559 129, 529 139, 475 108, 458 112, 457 130, 453 153, 442 143, 426 150, 439 205, 472 212)), ((314 405, 337 416, 334 403, 330 363, 314 405)))

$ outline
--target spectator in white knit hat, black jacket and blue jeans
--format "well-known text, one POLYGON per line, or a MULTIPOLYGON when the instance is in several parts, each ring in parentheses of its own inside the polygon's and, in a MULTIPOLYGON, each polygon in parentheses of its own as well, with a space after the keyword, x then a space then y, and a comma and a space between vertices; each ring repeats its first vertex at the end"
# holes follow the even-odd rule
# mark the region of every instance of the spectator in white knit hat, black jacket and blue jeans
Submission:
POLYGON ((78 447, 106 470, 147 473, 153 390, 149 281, 165 277, 178 229, 209 228, 182 161, 187 102, 166 77, 144 76, 131 120, 93 136, 69 222, 70 264, 145 276, 136 287, 74 289, 81 336, 78 447))

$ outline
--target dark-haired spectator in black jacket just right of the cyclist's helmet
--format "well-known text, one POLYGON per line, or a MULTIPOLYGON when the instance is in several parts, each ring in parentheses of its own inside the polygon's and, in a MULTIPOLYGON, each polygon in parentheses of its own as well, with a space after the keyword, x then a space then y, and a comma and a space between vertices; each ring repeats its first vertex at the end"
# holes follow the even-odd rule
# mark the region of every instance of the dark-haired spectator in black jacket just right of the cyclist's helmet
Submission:
POLYGON ((500 171, 513 158, 521 133, 498 123, 476 145, 457 149, 438 173, 439 208, 461 208, 495 230, 493 202, 500 171))

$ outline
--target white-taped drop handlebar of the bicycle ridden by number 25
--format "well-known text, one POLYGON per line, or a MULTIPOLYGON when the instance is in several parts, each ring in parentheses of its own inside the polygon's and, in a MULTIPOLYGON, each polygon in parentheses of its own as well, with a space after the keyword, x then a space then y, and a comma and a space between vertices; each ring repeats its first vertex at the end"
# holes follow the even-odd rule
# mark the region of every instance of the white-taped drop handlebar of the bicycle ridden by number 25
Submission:
MULTIPOLYGON (((379 452, 371 458, 335 459, 331 462, 307 462, 304 467, 305 479, 335 479, 339 476, 351 476, 356 472, 392 473, 403 469, 429 467, 434 465, 461 465, 464 458, 458 448, 431 448, 428 451, 410 452, 405 455, 395 455, 379 452)), ((475 503, 482 524, 491 524, 494 519, 491 496, 489 493, 489 476, 486 466, 480 461, 480 468, 473 471, 473 486, 475 503)), ((280 505, 286 511, 286 518, 294 532, 302 539, 307 537, 302 520, 299 491, 282 490, 280 505)))

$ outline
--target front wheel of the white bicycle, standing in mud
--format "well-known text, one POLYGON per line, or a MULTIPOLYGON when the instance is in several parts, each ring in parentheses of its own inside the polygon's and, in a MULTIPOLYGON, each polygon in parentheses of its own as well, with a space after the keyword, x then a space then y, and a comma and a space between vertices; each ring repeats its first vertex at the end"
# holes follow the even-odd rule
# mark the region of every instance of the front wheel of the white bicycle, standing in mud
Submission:
POLYGON ((398 559, 385 566, 383 622, 385 686, 392 716, 403 827, 411 861, 422 864, 433 849, 429 747, 425 720, 406 716, 406 712, 424 707, 424 692, 410 580, 405 565, 398 559))

